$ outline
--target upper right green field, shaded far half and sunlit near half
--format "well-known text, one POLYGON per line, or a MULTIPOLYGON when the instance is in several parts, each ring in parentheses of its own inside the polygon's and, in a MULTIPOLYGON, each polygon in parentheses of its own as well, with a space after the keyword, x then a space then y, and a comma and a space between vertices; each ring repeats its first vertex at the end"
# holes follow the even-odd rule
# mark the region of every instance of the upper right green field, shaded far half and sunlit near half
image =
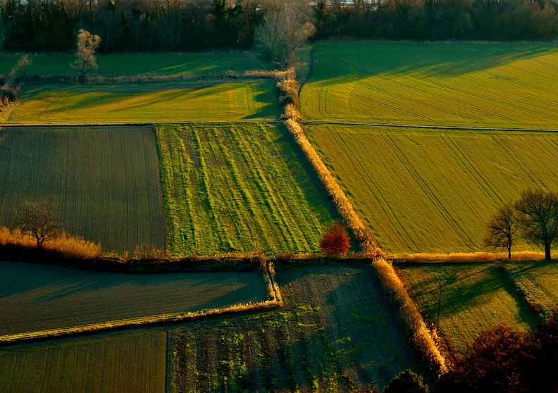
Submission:
POLYGON ((311 120, 558 129, 554 44, 318 46, 311 120))

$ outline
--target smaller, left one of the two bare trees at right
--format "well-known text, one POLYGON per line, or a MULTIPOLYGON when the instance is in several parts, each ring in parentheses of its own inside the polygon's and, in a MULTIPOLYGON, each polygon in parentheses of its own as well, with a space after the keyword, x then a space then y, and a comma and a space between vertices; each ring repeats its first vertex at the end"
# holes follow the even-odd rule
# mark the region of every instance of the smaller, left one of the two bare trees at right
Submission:
POLYGON ((500 207, 494 216, 490 217, 486 224, 486 247, 505 247, 508 251, 508 259, 512 258, 512 245, 514 244, 519 220, 512 203, 500 207))

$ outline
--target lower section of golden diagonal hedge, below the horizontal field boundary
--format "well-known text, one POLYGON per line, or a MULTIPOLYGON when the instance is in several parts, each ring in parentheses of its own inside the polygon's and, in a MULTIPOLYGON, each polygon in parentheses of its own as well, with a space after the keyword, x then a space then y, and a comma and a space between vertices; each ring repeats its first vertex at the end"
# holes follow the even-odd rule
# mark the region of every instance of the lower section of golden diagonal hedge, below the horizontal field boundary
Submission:
POLYGON ((402 281, 395 273, 393 266, 383 258, 373 261, 372 266, 378 271, 383 287, 390 293, 399 309, 399 316, 404 320, 412 336, 413 343, 424 355, 425 361, 435 373, 447 373, 445 357, 438 349, 432 332, 426 327, 419 308, 409 297, 402 281))

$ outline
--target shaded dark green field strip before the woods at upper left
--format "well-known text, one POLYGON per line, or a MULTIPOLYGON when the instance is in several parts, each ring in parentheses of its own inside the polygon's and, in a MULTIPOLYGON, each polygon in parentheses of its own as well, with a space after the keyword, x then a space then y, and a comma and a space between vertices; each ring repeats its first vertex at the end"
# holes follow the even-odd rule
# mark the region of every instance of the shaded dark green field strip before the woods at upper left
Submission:
MULTIPOLYGON (((0 74, 9 73, 20 56, 0 56, 0 74)), ((73 75, 73 56, 30 55, 29 74, 73 75)), ((242 52, 207 52, 197 54, 149 54, 97 56, 99 68, 94 72, 104 76, 121 75, 206 75, 265 69, 255 56, 242 52)))

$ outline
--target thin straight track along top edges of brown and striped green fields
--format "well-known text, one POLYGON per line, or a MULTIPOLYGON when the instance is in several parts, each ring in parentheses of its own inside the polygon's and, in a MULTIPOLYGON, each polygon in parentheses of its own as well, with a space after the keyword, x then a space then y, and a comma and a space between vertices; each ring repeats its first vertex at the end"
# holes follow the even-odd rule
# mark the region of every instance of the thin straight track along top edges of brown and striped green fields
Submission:
POLYGON ((159 122, 115 122, 115 123, 0 123, 0 130, 9 127, 151 127, 166 124, 232 124, 232 123, 283 123, 281 119, 240 119, 240 120, 207 120, 207 121, 159 121, 159 122))

